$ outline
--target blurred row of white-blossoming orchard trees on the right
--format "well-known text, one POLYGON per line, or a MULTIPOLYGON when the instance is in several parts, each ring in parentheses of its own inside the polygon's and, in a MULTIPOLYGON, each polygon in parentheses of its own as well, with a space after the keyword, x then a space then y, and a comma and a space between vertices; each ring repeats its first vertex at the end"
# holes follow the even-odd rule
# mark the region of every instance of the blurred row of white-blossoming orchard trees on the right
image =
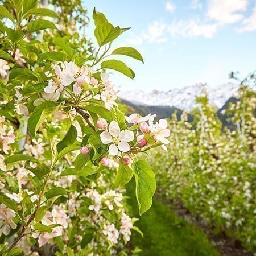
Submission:
POLYGON ((151 159, 164 196, 255 249, 256 97, 246 85, 238 94, 224 110, 236 129, 222 126, 204 92, 192 123, 185 112, 180 121, 172 115, 168 151, 151 159))

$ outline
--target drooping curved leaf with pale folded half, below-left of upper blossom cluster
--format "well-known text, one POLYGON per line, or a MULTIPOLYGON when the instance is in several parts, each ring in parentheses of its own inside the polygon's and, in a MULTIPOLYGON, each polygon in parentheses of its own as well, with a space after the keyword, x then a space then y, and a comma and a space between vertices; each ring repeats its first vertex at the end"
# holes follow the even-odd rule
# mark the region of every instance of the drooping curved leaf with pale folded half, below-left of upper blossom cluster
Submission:
POLYGON ((27 122, 28 130, 32 137, 35 137, 40 125, 42 125, 49 115, 55 112, 57 106, 58 104, 56 102, 45 101, 34 109, 27 122))

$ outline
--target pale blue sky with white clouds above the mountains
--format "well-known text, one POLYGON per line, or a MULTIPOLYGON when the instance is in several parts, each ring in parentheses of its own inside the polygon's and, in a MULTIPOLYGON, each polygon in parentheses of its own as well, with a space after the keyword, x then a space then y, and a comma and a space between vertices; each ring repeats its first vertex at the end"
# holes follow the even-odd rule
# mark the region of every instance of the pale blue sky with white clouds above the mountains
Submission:
MULTIPOLYGON (((229 82, 256 69, 255 0, 87 0, 89 16, 95 6, 114 26, 131 27, 114 47, 132 46, 144 63, 121 58, 134 81, 114 75, 121 89, 169 90, 207 82, 229 82)), ((88 35, 92 35, 91 22, 88 35)))

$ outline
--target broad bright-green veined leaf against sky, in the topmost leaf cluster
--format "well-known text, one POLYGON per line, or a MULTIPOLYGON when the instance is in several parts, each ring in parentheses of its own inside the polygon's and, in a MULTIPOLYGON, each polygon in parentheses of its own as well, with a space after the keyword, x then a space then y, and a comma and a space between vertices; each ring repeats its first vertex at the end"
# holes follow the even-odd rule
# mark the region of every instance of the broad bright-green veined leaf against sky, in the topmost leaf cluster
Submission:
POLYGON ((112 42, 120 34, 120 28, 114 28, 110 23, 101 23, 94 31, 99 46, 112 42))

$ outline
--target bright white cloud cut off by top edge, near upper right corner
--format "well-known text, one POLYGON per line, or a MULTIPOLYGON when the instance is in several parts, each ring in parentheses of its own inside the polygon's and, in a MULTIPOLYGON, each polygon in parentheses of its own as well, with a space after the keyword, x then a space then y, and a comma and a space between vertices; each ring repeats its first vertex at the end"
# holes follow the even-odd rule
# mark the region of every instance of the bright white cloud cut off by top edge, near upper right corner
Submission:
POLYGON ((236 23, 243 19, 243 14, 248 5, 247 0, 209 0, 207 16, 220 24, 236 23))

